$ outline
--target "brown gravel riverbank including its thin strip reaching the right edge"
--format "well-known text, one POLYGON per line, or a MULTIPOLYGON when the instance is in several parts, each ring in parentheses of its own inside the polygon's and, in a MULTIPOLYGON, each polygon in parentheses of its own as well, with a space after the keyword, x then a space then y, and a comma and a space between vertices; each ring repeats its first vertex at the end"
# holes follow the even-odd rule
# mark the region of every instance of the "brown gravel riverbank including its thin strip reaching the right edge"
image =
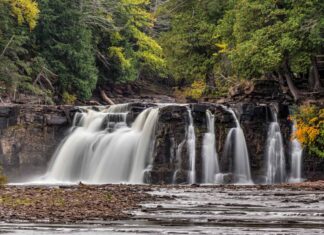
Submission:
MULTIPOLYGON (((103 185, 0 187, 0 220, 37 223, 83 223, 132 218, 141 204, 176 198, 157 190, 324 191, 324 181, 283 185, 103 185)), ((285 196, 285 195, 283 195, 285 196)))

